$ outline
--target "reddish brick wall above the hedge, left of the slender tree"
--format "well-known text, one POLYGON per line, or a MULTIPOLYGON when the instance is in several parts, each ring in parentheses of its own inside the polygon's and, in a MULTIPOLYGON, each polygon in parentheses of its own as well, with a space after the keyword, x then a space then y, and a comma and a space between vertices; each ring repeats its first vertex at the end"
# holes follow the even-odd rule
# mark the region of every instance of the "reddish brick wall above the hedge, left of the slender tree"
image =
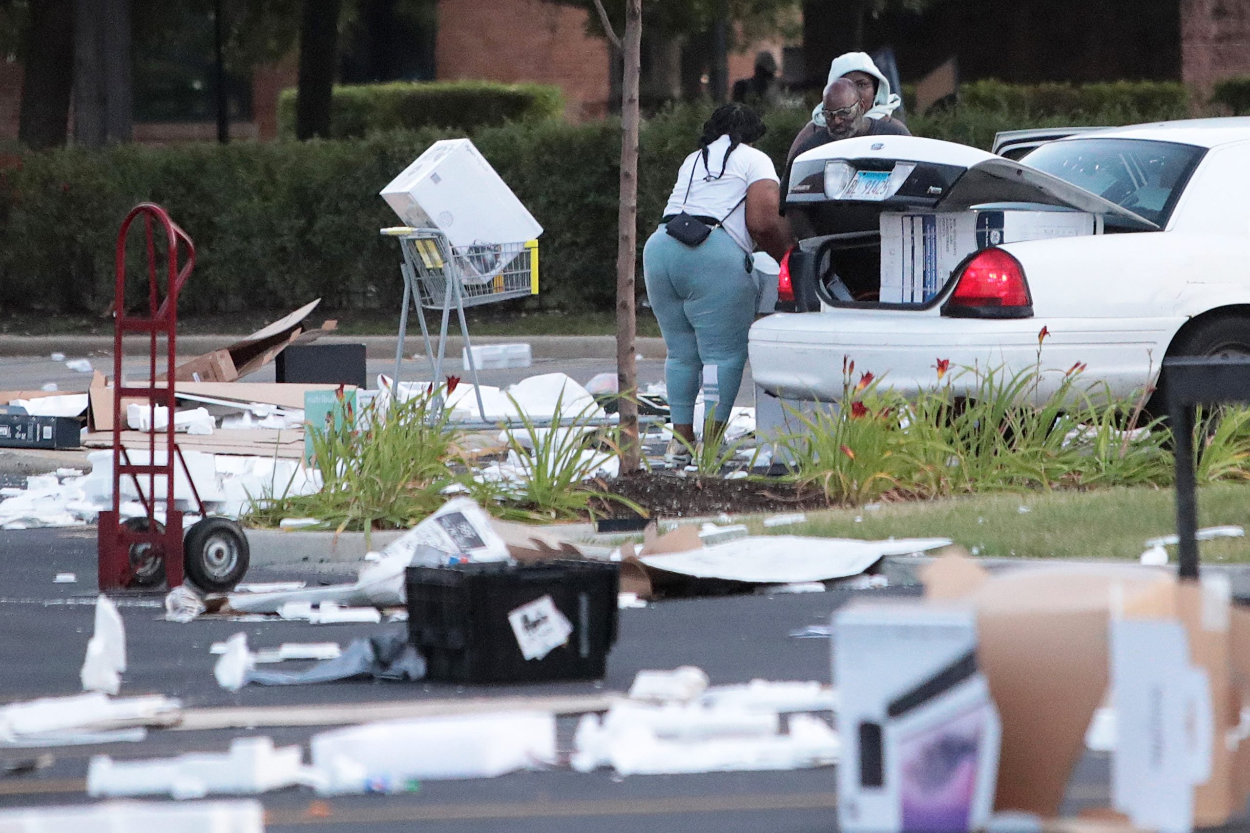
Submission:
POLYGON ((441 0, 439 80, 539 81, 564 90, 570 119, 608 110, 608 44, 586 11, 546 0, 441 0))

